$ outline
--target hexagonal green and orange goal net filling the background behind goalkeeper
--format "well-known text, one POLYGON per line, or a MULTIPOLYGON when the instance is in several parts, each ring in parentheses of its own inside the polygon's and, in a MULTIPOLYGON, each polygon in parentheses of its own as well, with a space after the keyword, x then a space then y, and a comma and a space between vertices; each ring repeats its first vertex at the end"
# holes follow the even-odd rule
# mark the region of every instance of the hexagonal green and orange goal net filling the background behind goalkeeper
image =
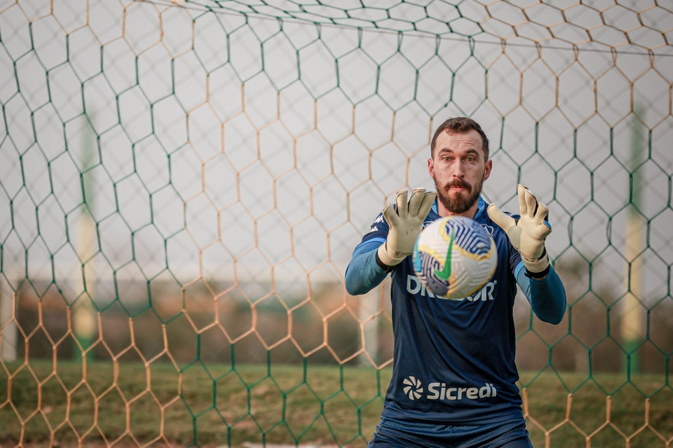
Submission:
POLYGON ((538 446, 673 443, 673 11, 653 1, 0 0, 0 443, 366 445, 389 283, 344 290, 434 127, 548 204, 538 446))

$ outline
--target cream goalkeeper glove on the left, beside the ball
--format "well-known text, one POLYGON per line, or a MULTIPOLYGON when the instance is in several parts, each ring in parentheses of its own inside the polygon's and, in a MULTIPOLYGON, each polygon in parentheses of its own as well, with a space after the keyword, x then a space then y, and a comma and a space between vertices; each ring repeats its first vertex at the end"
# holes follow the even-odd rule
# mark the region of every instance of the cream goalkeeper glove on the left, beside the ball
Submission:
POLYGON ((433 207, 437 193, 426 193, 425 188, 416 188, 407 202, 407 190, 398 191, 395 208, 392 204, 383 208, 383 218, 390 226, 386 242, 379 246, 379 260, 387 266, 399 265, 412 254, 416 237, 423 230, 428 212, 433 207))

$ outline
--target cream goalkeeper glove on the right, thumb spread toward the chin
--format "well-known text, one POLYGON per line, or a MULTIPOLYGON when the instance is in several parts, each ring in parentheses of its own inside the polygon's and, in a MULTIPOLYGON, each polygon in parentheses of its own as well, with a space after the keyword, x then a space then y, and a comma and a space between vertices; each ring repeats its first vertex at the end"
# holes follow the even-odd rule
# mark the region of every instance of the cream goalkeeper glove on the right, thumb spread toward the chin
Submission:
POLYGON ((545 238, 552 232, 547 219, 549 209, 538 202, 528 188, 517 186, 520 218, 503 213, 496 204, 489 205, 491 220, 502 228, 517 251, 524 267, 531 273, 544 272, 549 266, 545 238))

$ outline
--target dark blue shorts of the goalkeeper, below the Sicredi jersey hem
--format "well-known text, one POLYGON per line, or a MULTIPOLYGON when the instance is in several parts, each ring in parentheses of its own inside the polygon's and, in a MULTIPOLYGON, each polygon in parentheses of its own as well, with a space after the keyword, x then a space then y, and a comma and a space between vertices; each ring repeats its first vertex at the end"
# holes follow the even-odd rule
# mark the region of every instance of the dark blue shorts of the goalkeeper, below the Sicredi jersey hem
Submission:
POLYGON ((477 426, 437 425, 381 417, 372 448, 533 448, 524 419, 477 426))

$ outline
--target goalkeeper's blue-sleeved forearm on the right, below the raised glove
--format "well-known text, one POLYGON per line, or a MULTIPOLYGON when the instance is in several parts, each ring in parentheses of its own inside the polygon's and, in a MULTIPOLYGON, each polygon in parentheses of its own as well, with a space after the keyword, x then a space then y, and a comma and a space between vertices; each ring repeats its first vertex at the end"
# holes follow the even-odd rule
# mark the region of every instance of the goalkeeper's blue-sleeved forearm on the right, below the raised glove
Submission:
POLYGON ((517 283, 531 304, 533 313, 543 322, 560 323, 566 313, 566 289, 559 274, 551 265, 544 279, 531 279, 525 272, 523 263, 519 263, 517 283))

